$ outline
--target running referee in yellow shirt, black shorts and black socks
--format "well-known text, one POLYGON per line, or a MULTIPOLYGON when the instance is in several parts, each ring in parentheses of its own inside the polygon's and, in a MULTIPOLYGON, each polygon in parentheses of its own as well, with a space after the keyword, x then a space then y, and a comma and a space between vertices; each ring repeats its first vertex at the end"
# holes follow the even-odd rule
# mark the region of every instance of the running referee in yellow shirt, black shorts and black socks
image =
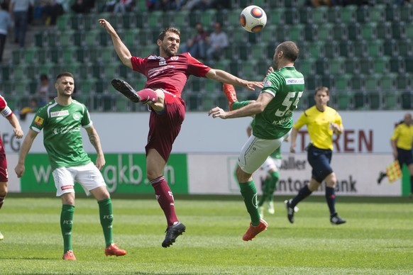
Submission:
POLYGON ((333 225, 346 223, 336 212, 336 174, 330 166, 333 152, 333 134, 343 133, 341 116, 334 108, 327 106, 329 88, 321 86, 314 93, 315 106, 308 108, 292 127, 290 152, 295 152, 298 130, 307 125, 311 144, 307 150, 307 159, 312 166, 312 179, 309 184, 298 191, 297 196, 285 201, 287 218, 294 223, 294 207, 307 198, 313 191, 319 189, 321 182, 326 182, 326 201, 329 205, 330 222, 333 225))

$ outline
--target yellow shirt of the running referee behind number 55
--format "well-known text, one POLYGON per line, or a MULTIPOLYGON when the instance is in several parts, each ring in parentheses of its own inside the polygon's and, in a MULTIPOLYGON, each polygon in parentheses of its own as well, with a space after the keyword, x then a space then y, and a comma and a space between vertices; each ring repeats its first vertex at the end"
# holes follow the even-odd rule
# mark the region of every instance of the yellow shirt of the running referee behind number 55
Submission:
POLYGON ((331 123, 336 123, 343 127, 341 116, 334 108, 327 106, 324 112, 320 112, 316 106, 312 106, 299 116, 297 123, 293 127, 298 130, 302 126, 307 125, 310 140, 315 147, 333 150, 331 123))

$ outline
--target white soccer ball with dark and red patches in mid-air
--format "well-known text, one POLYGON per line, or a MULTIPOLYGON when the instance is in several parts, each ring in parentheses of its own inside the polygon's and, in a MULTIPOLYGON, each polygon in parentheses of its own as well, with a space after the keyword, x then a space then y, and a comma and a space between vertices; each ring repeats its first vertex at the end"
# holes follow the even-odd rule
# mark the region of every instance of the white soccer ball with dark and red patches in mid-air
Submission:
POLYGON ((241 26, 250 33, 257 33, 267 23, 267 14, 259 6, 247 6, 239 16, 241 26))

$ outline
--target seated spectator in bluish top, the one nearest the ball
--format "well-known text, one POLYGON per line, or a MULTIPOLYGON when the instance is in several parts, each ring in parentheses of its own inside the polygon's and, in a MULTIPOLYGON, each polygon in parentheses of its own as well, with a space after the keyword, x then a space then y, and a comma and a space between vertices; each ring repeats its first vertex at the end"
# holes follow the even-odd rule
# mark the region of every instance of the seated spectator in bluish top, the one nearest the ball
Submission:
POLYGON ((206 38, 208 50, 206 50, 206 58, 209 61, 219 60, 224 54, 224 50, 228 47, 228 35, 222 31, 222 25, 219 22, 214 23, 214 33, 206 38))

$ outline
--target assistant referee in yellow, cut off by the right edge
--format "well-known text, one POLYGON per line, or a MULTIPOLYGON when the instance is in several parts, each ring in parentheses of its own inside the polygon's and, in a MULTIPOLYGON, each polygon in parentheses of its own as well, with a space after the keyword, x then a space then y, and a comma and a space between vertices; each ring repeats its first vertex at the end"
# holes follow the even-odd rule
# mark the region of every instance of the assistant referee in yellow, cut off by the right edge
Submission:
MULTIPOLYGON (((407 168, 409 168, 410 198, 413 198, 413 120, 410 113, 406 113, 402 123, 396 126, 392 138, 390 138, 390 143, 392 144, 393 157, 399 162, 400 168, 403 167, 403 164, 406 164, 407 168)), ((380 184, 385 176, 387 176, 385 172, 380 172, 378 184, 380 184)))

